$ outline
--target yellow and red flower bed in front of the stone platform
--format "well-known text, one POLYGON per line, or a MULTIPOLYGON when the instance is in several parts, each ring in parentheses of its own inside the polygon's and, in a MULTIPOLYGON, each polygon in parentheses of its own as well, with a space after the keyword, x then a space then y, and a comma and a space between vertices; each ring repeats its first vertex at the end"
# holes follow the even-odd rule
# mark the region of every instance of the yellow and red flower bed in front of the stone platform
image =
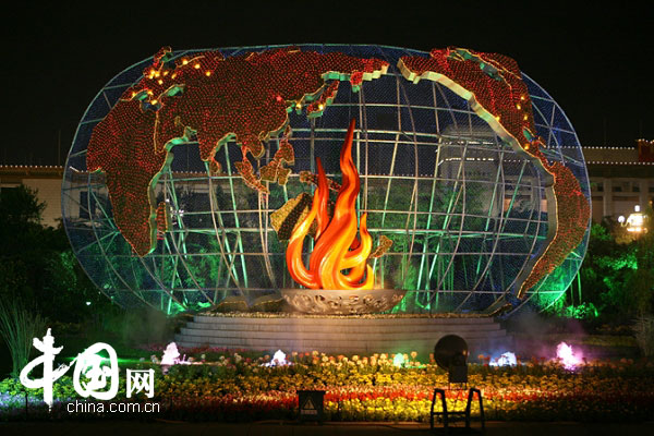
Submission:
MULTIPOLYGON (((262 366, 269 356, 252 359, 217 350, 186 350, 204 365, 175 365, 164 375, 157 365, 155 398, 160 417, 178 420, 293 419, 299 389, 323 389, 325 411, 332 421, 428 421, 435 387, 447 386, 447 374, 434 363, 392 365, 392 356, 329 356, 293 353, 292 364, 262 366)), ((415 356, 412 356, 415 359, 415 356)), ((121 380, 118 399, 124 399, 121 380)), ((482 389, 488 420, 639 421, 654 415, 654 365, 623 360, 593 362, 576 372, 556 362, 530 361, 516 367, 471 364, 469 386, 482 389)), ((448 390, 448 408, 462 410, 465 393, 448 390)), ((25 391, 17 380, 0 382, 0 419, 23 416, 25 395, 33 402, 43 392, 25 391)), ((55 398, 77 398, 72 382, 60 379, 55 398)), ((140 401, 146 399, 141 398, 140 401)), ((31 416, 47 415, 31 404, 31 416), (39 414, 40 413, 40 414, 39 414)), ((473 415, 477 404, 473 403, 473 415)), ((55 416, 70 417, 62 407, 55 416)), ((52 416, 52 414, 50 416, 52 416)), ((123 416, 124 417, 124 416, 123 416)))

